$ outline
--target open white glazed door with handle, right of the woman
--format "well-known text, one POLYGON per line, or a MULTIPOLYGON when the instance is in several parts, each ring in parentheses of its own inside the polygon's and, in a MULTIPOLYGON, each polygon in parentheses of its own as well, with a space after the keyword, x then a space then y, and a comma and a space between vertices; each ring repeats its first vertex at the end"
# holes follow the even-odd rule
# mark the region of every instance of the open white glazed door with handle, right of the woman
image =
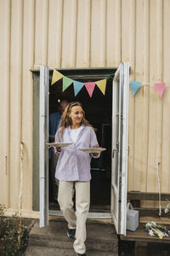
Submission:
POLYGON ((129 63, 113 79, 111 215, 117 234, 126 236, 129 63))

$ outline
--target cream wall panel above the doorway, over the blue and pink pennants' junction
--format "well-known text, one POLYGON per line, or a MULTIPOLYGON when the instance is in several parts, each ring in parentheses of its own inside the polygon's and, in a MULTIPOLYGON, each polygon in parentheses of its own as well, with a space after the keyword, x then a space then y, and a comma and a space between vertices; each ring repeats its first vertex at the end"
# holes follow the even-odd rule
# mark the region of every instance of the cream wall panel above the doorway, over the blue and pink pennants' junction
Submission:
POLYGON ((76 67, 89 67, 91 41, 91 1, 78 1, 76 67))

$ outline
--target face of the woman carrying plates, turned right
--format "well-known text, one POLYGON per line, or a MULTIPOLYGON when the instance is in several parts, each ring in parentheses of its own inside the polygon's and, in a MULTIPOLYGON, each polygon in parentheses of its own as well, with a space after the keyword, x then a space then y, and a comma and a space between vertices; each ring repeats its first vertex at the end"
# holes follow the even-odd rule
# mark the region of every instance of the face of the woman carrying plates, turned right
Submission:
POLYGON ((68 113, 68 115, 71 118, 72 125, 82 124, 83 111, 81 106, 72 107, 71 112, 68 113))

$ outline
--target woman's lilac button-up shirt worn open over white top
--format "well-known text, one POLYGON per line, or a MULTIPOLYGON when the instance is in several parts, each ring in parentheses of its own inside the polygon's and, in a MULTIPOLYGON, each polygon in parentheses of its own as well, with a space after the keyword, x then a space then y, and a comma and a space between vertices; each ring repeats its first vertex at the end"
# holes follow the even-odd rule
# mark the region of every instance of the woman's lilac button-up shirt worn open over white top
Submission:
MULTIPOLYGON (((69 125, 65 128, 63 137, 60 138, 59 129, 55 135, 55 141, 59 143, 73 143, 70 133, 71 126, 69 125)), ((77 137, 77 143, 61 148, 60 154, 55 150, 59 154, 55 177, 62 181, 89 181, 91 179, 90 162, 93 155, 84 153, 79 148, 98 146, 94 130, 88 125, 82 124, 82 131, 80 131, 77 137)))

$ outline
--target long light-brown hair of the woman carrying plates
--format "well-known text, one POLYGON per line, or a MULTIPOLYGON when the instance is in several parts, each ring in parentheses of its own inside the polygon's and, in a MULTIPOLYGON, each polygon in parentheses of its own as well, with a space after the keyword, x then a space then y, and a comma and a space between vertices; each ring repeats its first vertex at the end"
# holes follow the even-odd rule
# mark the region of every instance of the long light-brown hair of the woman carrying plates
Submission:
MULTIPOLYGON (((76 106, 80 106, 82 108, 82 104, 80 102, 71 102, 68 104, 68 106, 65 108, 64 113, 61 115, 61 124, 59 126, 61 137, 63 137, 64 129, 67 126, 71 125, 71 118, 69 117, 68 113, 71 113, 71 108, 76 106)), ((90 126, 95 131, 95 128, 89 124, 87 119, 85 119, 85 113, 83 108, 82 108, 82 124, 90 126)))

